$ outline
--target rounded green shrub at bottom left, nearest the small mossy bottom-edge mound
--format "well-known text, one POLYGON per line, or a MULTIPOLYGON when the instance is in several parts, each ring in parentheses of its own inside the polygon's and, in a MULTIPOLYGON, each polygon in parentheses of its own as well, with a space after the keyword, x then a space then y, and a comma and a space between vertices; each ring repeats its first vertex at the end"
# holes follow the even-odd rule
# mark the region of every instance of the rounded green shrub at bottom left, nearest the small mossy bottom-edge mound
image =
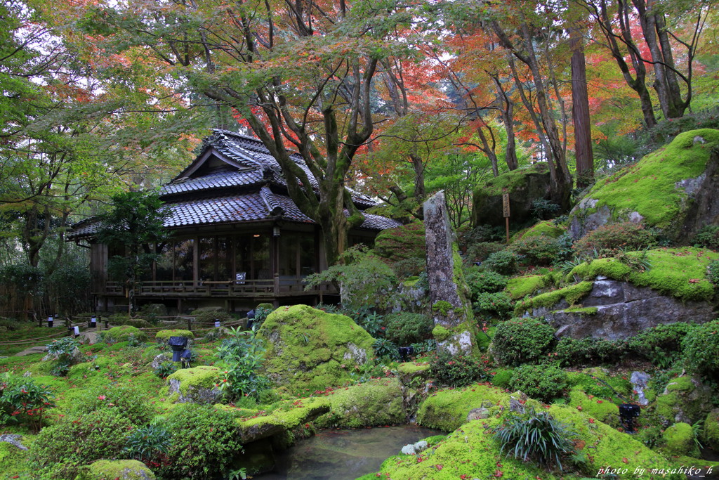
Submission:
POLYGON ((74 479, 88 463, 122 454, 129 420, 118 409, 99 409, 65 417, 45 427, 35 438, 30 455, 43 479, 74 479))

